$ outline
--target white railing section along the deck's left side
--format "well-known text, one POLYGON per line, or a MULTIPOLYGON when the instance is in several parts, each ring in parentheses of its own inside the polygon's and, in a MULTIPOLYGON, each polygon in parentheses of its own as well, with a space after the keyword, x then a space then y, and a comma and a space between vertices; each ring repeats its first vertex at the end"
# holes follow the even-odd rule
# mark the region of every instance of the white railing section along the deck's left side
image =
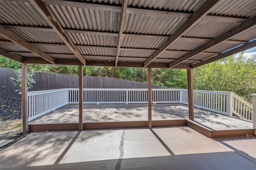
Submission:
POLYGON ((28 121, 68 104, 68 89, 28 92, 28 121))

